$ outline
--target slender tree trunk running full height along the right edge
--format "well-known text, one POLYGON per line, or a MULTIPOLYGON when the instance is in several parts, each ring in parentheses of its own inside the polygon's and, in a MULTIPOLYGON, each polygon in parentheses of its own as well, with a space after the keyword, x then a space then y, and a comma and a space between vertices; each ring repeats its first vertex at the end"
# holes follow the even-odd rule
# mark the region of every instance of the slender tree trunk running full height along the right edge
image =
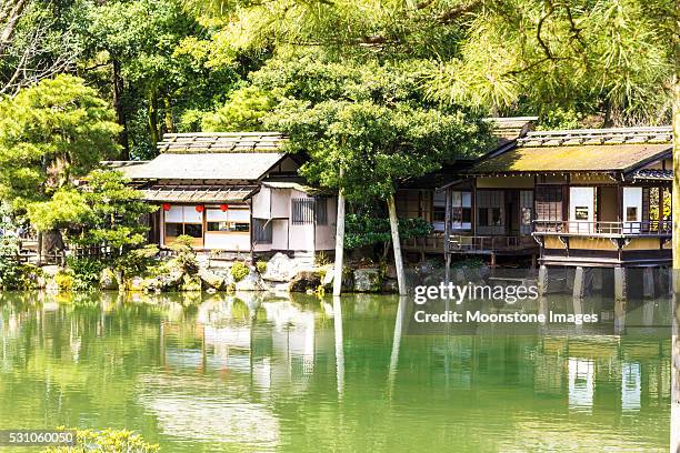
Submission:
POLYGON ((670 452, 680 452, 680 0, 676 0, 676 33, 673 53, 673 194, 672 209, 672 303, 673 326, 671 336, 671 426, 670 452))

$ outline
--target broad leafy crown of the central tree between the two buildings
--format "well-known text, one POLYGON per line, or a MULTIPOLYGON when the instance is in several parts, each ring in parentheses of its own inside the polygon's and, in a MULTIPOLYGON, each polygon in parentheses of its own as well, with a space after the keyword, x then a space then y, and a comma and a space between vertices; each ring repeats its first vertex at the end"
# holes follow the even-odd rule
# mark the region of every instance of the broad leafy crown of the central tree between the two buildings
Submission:
POLYGON ((264 125, 290 135, 288 151, 311 157, 301 173, 349 200, 387 199, 399 181, 491 143, 478 118, 429 103, 408 68, 309 57, 273 61, 252 80, 280 93, 264 125))

